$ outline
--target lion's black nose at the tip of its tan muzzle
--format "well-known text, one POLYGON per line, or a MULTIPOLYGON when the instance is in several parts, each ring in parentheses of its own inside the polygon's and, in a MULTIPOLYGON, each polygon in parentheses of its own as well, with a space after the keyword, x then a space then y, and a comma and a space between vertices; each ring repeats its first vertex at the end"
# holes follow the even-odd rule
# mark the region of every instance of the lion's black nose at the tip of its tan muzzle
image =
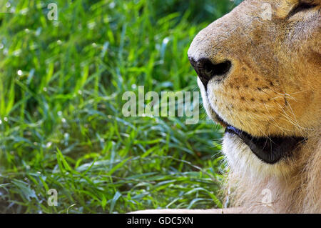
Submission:
POLYGON ((190 64, 192 64, 193 68, 200 78, 200 81, 202 81, 203 85, 205 86, 205 89, 210 79, 215 78, 218 81, 221 81, 232 66, 232 63, 229 60, 223 61, 219 64, 213 64, 210 59, 206 58, 200 59, 198 61, 195 61, 195 59, 193 58, 188 59, 190 59, 190 64))

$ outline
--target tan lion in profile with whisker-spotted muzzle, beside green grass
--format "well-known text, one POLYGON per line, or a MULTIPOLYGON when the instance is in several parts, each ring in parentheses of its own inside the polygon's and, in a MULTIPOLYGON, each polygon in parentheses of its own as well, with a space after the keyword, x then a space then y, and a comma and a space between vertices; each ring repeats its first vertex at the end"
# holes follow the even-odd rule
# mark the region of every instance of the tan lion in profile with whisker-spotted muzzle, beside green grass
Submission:
POLYGON ((225 127, 229 209, 321 212, 321 0, 245 0, 195 36, 203 106, 225 127))

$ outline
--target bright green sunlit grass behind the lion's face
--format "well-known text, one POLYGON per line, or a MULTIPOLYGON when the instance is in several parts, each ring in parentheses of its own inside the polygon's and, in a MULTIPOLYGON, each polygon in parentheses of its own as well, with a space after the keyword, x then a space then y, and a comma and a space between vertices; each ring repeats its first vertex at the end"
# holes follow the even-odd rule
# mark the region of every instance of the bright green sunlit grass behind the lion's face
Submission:
POLYGON ((188 46, 235 4, 57 0, 49 21, 51 2, 0 14, 0 212, 222 207, 223 130, 204 111, 195 125, 126 118, 121 98, 139 85, 198 91, 188 46))

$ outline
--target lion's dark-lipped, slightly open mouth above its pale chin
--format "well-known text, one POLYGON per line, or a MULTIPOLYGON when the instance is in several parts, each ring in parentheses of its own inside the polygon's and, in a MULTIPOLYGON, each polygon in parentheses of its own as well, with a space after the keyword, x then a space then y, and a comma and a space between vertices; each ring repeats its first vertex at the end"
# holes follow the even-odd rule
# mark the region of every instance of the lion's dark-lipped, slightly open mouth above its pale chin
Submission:
POLYGON ((233 134, 242 139, 253 154, 267 164, 275 164, 283 157, 290 157, 292 152, 306 141, 303 137, 253 137, 248 132, 226 123, 218 115, 216 119, 226 127, 225 134, 233 134))

